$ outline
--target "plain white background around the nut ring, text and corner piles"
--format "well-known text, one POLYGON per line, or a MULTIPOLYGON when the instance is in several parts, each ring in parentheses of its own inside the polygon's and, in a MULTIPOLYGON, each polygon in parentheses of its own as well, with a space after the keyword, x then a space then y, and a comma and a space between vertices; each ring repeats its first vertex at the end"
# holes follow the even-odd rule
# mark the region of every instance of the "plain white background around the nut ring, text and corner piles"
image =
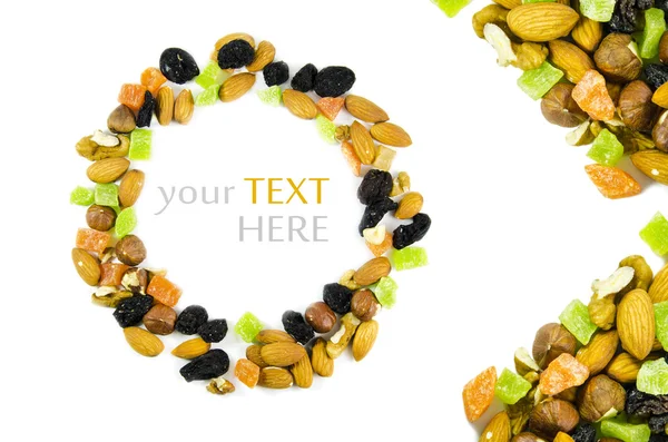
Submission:
MULTIPOLYGON (((611 202, 591 185, 587 148, 563 141, 515 87, 519 71, 494 63, 470 29, 474 2, 449 20, 428 0, 12 2, 2 13, 3 312, 0 439, 29 441, 286 441, 392 439, 474 441, 462 385, 491 364, 512 366, 518 346, 554 321, 595 277, 628 254, 661 259, 638 230, 666 209, 666 190, 611 202), (18 6, 20 4, 20 6, 18 6), (178 375, 169 355, 135 354, 109 310, 90 304, 70 264, 84 209, 69 191, 86 184, 73 145, 104 128, 122 82, 179 46, 200 66, 233 31, 271 40, 293 73, 306 62, 346 65, 353 92, 383 106, 412 135, 397 170, 425 196, 433 228, 421 244, 431 266, 396 274, 399 303, 379 316, 377 345, 363 363, 336 361, 313 389, 208 394, 178 375)), ((258 86, 262 86, 258 81, 258 86)), ((194 90, 197 87, 194 86, 194 90)), ((137 206, 148 265, 234 321, 246 310, 279 326, 323 284, 362 264, 362 208, 336 146, 313 124, 249 95, 197 109, 187 127, 154 122, 154 160, 137 206), (328 216, 325 244, 239 244, 239 215, 254 214, 243 177, 330 177, 322 206, 264 215, 328 216), (160 206, 158 186, 236 185, 232 204, 160 206)), ((212 187, 213 188, 213 187, 212 187)), ((244 345, 229 333, 234 360, 244 345)), ((481 422, 487 422, 489 415, 481 422)))

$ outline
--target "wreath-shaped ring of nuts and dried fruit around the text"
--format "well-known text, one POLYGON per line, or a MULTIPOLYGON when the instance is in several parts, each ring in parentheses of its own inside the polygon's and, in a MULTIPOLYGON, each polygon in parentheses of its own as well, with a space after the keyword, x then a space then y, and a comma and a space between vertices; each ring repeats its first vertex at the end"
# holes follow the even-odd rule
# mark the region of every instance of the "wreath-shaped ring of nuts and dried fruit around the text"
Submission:
POLYGON ((412 246, 431 225, 430 217, 421 213, 422 195, 410 191, 406 173, 395 177, 390 173, 396 155, 392 147, 410 146, 410 136, 387 122, 387 114, 372 101, 346 95, 355 82, 355 73, 348 68, 318 70, 308 63, 292 78, 291 88, 283 89, 289 80, 289 68, 274 61, 275 52, 268 41, 256 46, 249 35, 233 33, 216 42, 208 65, 200 71, 185 50, 166 49, 159 68, 146 69, 140 84, 122 85, 120 106, 107 120, 109 130, 84 137, 76 146, 80 156, 92 161, 87 175, 95 188, 77 187, 70 197, 71 203, 88 206, 88 228, 77 233, 72 261, 84 282, 97 287, 92 301, 114 308, 128 344, 144 356, 163 352, 158 335, 175 331, 198 335, 179 344, 171 354, 190 360, 180 369, 186 381, 208 381, 207 390, 216 394, 234 391, 234 384, 224 377, 229 369, 227 353, 212 348, 227 334, 227 321, 212 320, 198 305, 178 313, 175 307, 181 289, 165 271, 140 267, 147 257, 146 247, 131 234, 137 224, 134 205, 145 181, 145 174, 132 168, 131 161, 150 158, 148 128, 154 115, 160 126, 171 121, 185 125, 196 107, 242 98, 262 71, 267 88, 257 91, 259 99, 275 107, 284 105, 298 118, 315 120, 325 141, 341 144, 353 175, 363 176, 357 197, 366 208, 358 233, 374 257, 356 271, 345 272, 337 283, 325 285, 323 299, 311 304, 304 314, 285 312, 285 331, 264 330, 250 313, 237 321, 235 332, 252 345, 246 358, 236 362, 234 374, 248 387, 286 389, 296 384, 306 389, 314 372, 332 376, 334 360, 351 342, 353 357, 364 358, 379 333, 374 316, 383 307, 391 308, 396 299, 392 267, 402 271, 426 264, 426 252, 412 246), (174 85, 191 80, 202 88, 195 98, 185 88, 175 94, 174 85), (317 101, 315 95, 321 97, 317 101), (400 196, 402 199, 395 202, 400 196), (390 212, 411 223, 390 233, 381 225, 390 212), (385 256, 389 253, 392 261, 385 256))

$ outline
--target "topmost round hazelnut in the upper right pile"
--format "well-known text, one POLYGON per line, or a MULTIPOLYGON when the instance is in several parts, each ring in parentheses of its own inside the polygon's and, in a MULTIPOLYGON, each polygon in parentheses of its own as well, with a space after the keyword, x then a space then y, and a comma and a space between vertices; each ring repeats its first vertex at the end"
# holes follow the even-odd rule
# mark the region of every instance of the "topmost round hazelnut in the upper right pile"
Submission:
POLYGON ((608 35, 593 55, 593 61, 601 73, 611 81, 633 81, 642 72, 638 46, 632 37, 626 33, 608 35))

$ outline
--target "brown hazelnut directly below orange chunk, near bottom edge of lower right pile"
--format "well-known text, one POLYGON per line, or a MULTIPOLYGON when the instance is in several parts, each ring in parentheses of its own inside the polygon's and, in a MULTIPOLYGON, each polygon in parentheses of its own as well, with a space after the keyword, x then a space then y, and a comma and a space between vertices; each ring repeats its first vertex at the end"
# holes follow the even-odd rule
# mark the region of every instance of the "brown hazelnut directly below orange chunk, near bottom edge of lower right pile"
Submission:
POLYGON ((548 399, 536 405, 529 418, 529 429, 537 435, 552 440, 560 431, 570 433, 578 426, 580 414, 574 405, 560 399, 548 399))

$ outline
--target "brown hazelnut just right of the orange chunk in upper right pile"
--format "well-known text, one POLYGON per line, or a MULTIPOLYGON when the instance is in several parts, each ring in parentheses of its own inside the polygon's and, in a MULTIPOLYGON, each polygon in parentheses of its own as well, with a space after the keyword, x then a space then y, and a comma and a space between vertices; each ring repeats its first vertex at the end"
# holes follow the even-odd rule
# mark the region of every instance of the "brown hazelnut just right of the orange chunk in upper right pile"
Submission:
POLYGON ((619 96, 619 116, 628 128, 640 131, 651 130, 658 106, 651 102, 654 95, 642 80, 628 84, 619 96))

